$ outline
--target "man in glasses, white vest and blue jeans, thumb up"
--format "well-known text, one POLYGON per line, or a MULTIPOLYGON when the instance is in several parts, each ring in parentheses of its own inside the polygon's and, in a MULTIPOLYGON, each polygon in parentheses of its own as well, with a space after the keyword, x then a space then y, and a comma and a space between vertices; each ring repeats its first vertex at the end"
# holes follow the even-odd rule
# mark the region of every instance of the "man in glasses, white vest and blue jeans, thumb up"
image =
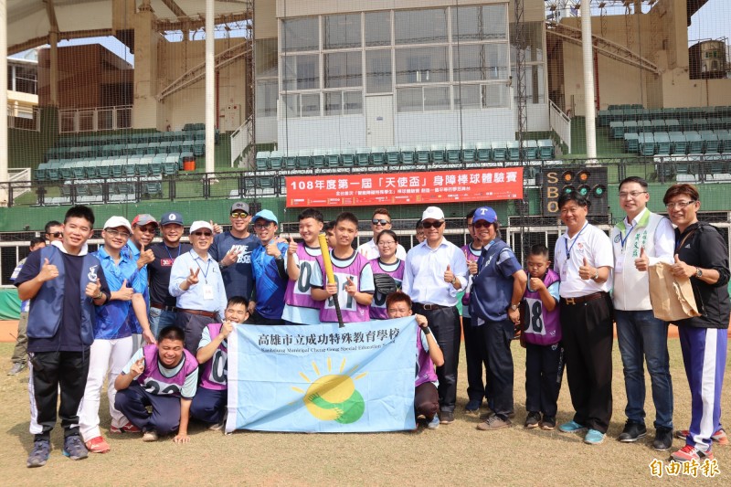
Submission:
POLYGON ((650 302, 649 266, 673 263, 675 233, 670 220, 647 209, 647 182, 630 176, 620 183, 620 206, 627 214, 611 231, 614 248, 614 317, 624 366, 627 423, 618 439, 631 443, 647 434, 645 372, 655 405, 655 450, 673 445, 673 383, 668 355, 668 323, 655 318, 650 302))

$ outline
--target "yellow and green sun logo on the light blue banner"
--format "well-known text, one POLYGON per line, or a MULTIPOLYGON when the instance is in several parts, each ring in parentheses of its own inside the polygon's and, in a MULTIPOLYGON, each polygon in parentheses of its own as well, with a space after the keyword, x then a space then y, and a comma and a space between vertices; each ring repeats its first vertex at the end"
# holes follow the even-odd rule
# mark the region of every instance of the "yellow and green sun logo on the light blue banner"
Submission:
POLYGON ((365 401, 355 389, 355 381, 367 375, 367 372, 362 372, 353 376, 357 369, 358 365, 355 365, 343 374, 345 370, 345 359, 343 359, 339 373, 330 374, 333 371, 333 360, 328 357, 327 375, 322 376, 317 364, 313 362, 313 371, 317 374, 317 379, 313 382, 310 377, 300 372, 300 376, 311 386, 307 387, 307 391, 294 386, 292 390, 304 395, 302 402, 315 418, 322 421, 337 421, 341 424, 355 423, 365 411, 365 401))

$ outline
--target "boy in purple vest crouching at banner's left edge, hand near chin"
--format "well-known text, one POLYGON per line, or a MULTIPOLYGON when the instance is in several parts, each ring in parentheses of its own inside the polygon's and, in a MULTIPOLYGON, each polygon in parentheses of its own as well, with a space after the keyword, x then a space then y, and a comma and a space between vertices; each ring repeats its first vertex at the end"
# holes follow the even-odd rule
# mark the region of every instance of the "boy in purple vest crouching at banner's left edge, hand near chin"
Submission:
POLYGON ((219 430, 226 421, 228 403, 228 335, 234 326, 249 319, 249 301, 234 296, 226 305, 224 323, 210 323, 203 329, 196 358, 203 365, 200 386, 190 406, 190 416, 219 430))

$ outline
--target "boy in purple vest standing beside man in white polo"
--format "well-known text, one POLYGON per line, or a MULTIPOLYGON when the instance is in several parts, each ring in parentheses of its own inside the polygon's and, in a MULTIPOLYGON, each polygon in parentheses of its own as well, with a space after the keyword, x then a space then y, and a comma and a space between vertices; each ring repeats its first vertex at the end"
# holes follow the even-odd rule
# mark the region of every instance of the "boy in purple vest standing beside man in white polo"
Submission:
POLYGON ((528 254, 522 343, 525 346, 525 428, 556 428, 558 393, 564 376, 564 347, 558 314, 558 274, 549 269, 548 249, 534 245, 528 254), (543 418, 541 418, 543 413, 543 418))

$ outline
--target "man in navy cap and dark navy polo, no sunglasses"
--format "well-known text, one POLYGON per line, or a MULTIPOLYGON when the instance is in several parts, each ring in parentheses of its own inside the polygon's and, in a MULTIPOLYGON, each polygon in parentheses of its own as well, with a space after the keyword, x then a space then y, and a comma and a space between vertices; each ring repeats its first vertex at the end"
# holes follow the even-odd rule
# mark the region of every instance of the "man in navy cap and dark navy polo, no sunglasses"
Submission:
POLYGON ((163 241, 150 246, 154 260, 147 264, 147 274, 150 276, 150 327, 155 336, 165 326, 175 324, 175 297, 167 287, 170 284, 173 262, 192 249, 189 243, 180 242, 183 225, 183 216, 180 213, 165 213, 160 218, 163 241))

